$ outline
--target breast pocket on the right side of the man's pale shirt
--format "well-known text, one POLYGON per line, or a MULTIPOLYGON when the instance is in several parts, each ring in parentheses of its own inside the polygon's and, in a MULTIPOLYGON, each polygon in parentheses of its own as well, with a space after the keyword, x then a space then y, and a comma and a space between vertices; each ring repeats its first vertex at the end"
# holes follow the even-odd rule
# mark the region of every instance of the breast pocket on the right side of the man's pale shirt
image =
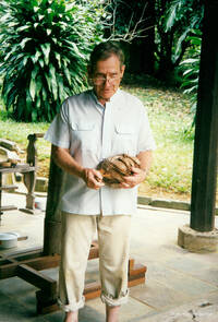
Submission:
POLYGON ((136 153, 136 129, 129 124, 117 124, 114 128, 113 154, 136 153))

